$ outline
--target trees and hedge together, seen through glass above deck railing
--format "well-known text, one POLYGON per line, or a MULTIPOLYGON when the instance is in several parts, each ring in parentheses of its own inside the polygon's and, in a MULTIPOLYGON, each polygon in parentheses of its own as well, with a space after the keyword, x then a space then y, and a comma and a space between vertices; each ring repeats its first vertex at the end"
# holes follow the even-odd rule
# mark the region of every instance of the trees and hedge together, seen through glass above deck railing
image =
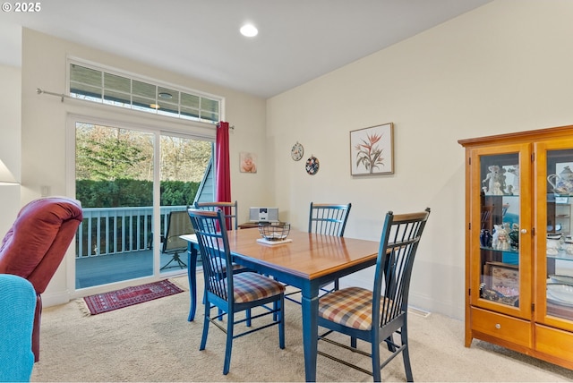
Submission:
MULTIPOLYGON (((213 144, 165 134, 159 143, 161 206, 191 205, 213 144)), ((151 133, 76 123, 76 197, 82 206, 153 206, 154 147, 151 133)))

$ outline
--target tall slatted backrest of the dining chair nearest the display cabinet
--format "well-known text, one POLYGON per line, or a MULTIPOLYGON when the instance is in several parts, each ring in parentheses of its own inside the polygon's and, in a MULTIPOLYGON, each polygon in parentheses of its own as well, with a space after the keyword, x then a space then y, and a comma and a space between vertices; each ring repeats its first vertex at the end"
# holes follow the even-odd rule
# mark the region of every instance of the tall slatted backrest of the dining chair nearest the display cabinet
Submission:
POLYGON ((430 209, 419 213, 386 214, 381 234, 380 251, 376 261, 372 297, 372 323, 381 328, 400 316, 406 316, 410 277, 415 253, 430 209), (382 305, 382 307, 381 307, 382 305), (380 313, 384 314, 381 316, 380 313))

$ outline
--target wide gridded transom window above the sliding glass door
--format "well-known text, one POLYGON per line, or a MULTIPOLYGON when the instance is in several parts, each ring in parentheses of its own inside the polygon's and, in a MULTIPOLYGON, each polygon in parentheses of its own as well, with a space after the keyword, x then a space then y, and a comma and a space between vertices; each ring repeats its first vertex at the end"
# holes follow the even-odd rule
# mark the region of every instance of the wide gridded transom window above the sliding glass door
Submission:
POLYGON ((156 115, 218 123, 220 99, 200 92, 142 81, 89 64, 70 63, 70 97, 156 115))

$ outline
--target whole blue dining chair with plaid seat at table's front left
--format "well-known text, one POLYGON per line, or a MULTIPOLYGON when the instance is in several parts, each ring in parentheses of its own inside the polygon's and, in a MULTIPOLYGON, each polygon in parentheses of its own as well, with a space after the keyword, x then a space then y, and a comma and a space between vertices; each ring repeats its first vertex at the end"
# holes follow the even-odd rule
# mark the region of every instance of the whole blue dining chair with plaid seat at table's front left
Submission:
MULTIPOLYGON (((223 374, 227 375, 231 363, 233 339, 251 334, 254 331, 278 326, 278 345, 285 348, 285 287, 277 281, 253 272, 229 273, 220 277, 223 266, 232 268, 232 256, 229 250, 227 228, 224 225, 225 214, 221 211, 189 209, 192 226, 197 234, 203 263, 205 281, 205 319, 200 350, 207 345, 210 323, 227 333, 225 364, 223 374), (269 304, 272 303, 272 306, 269 304), (235 313, 248 311, 254 307, 265 310, 247 319, 235 319, 235 313), (211 316, 211 309, 218 308, 218 314, 211 316), (227 315, 227 328, 218 323, 218 319, 227 315), (271 319, 262 320, 271 315, 271 319), (249 328, 239 334, 234 333, 235 325, 250 319, 261 319, 260 325, 249 328)), ((256 345, 253 345, 256 346, 256 345)))

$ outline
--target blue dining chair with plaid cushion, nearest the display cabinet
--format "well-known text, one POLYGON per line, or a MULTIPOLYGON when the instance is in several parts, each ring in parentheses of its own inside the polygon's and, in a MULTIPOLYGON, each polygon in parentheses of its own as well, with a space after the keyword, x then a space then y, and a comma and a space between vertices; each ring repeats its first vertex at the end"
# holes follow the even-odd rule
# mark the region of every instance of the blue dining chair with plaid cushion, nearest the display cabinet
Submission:
POLYGON ((406 379, 414 380, 407 340, 408 291, 415 253, 429 216, 430 209, 401 215, 389 211, 382 228, 373 289, 346 287, 319 299, 318 324, 328 329, 319 340, 372 358, 372 371, 331 353, 318 351, 319 354, 381 381, 381 369, 402 353, 406 379), (333 332, 350 336, 350 345, 329 338, 333 332), (400 336, 398 343, 394 341, 395 334, 400 336), (357 339, 369 343, 371 352, 357 348, 357 339), (389 349, 389 356, 383 362, 382 342, 386 342, 389 349))

